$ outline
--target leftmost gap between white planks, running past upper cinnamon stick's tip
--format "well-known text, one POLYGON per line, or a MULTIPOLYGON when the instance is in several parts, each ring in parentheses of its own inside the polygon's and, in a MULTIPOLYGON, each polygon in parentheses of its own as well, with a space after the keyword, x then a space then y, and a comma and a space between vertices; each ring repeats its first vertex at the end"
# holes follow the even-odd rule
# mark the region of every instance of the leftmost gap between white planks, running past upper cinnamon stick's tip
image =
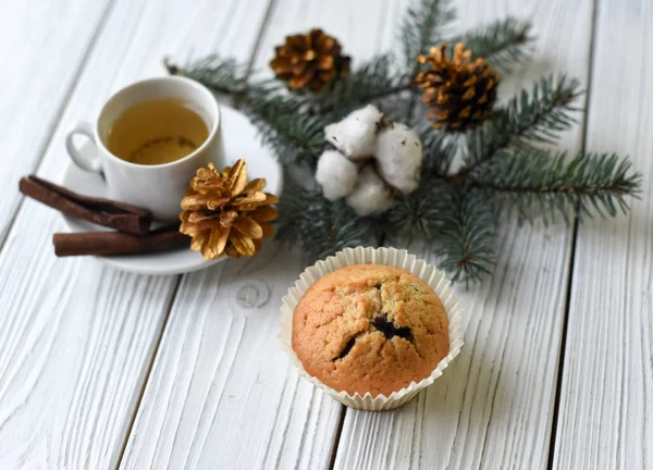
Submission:
MULTIPOLYGON (((46 151, 48 150, 48 148, 50 147, 50 144, 52 143, 52 137, 54 136, 54 132, 59 127, 59 124, 61 124, 61 116, 63 116, 63 112, 64 112, 65 108, 67 107, 71 97, 75 92, 75 89, 77 89, 77 85, 79 83, 79 78, 82 77, 82 73, 86 69, 86 64, 88 62, 88 59, 90 58, 90 54, 93 53, 93 51, 96 47, 98 38, 100 37, 101 33, 104 30, 104 26, 107 25, 107 20, 109 18, 109 16, 111 16, 111 12, 113 11, 113 7, 115 5, 115 2, 116 2, 116 0, 108 0, 107 1, 107 5, 104 7, 104 10, 102 11, 100 20, 98 21, 98 26, 96 27, 95 33, 91 35, 90 40, 88 41, 88 45, 86 46, 86 50, 82 54, 82 59, 79 60, 79 63, 77 64, 77 69, 75 70, 75 73, 73 74, 73 78, 71 79, 71 83, 70 83, 67 89, 63 94, 60 104, 54 110, 53 115, 58 115, 59 118, 53 119, 52 122, 50 123, 50 125, 46 128, 46 138, 44 139, 40 148, 36 151, 36 158, 34 159, 34 164, 32 166, 32 171, 34 173, 37 172, 38 168, 42 163, 46 151)), ((7 227, 4 228, 4 231, 0 232, 0 252, 4 249, 4 244, 7 242, 7 238, 9 237, 10 232, 13 228, 13 225, 19 217, 21 209, 23 208, 24 200, 25 200, 25 196, 21 196, 21 198, 16 202, 15 208, 13 209, 13 214, 9 215, 9 221, 7 223, 7 227)))

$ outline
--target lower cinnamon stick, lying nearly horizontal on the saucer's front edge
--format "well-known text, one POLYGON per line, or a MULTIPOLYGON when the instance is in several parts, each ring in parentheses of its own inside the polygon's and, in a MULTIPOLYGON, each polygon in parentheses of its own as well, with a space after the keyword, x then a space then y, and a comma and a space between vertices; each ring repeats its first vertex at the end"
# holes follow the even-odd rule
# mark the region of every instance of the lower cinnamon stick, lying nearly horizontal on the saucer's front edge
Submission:
POLYGON ((120 232, 58 233, 52 236, 58 257, 83 255, 130 255, 165 251, 188 246, 190 237, 180 233, 180 225, 161 227, 147 235, 120 232))

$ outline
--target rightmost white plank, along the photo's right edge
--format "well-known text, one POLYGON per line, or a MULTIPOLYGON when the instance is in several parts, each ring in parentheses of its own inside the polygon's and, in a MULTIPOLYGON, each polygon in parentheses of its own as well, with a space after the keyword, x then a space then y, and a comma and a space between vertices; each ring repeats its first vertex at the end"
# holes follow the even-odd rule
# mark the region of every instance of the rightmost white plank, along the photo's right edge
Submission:
POLYGON ((555 468, 653 468, 653 5, 597 2, 587 146, 629 154, 641 200, 580 227, 555 468))

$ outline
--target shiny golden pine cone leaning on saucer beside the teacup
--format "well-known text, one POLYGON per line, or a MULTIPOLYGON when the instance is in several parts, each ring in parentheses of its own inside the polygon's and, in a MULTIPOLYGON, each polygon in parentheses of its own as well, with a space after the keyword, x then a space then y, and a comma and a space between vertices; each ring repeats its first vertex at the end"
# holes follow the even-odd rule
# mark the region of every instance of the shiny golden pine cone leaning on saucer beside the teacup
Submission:
POLYGON ((261 239, 274 228, 268 222, 279 212, 270 205, 279 198, 262 193, 264 178, 247 183, 247 164, 238 160, 220 174, 212 163, 197 170, 182 200, 180 232, 193 237, 190 249, 206 259, 223 252, 230 257, 252 256, 260 251, 261 239))

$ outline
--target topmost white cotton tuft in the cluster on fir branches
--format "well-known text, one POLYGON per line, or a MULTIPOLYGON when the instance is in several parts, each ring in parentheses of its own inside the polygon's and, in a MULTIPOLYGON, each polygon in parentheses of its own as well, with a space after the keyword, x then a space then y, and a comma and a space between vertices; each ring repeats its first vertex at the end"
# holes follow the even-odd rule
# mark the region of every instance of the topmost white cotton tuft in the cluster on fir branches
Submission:
POLYGON ((382 116, 372 104, 353 111, 341 122, 324 127, 326 140, 354 160, 369 157, 374 150, 377 127, 382 116))

